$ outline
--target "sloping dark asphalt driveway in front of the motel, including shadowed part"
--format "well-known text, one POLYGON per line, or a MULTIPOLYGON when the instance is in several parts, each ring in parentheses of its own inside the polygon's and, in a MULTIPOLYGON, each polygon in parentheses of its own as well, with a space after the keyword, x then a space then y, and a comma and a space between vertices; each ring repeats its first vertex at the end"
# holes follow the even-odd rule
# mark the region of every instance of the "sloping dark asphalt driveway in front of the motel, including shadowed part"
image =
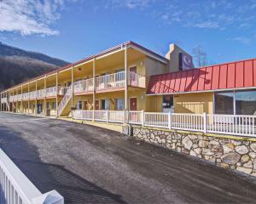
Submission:
POLYGON ((88 125, 0 113, 0 147, 66 203, 252 203, 256 179, 88 125))

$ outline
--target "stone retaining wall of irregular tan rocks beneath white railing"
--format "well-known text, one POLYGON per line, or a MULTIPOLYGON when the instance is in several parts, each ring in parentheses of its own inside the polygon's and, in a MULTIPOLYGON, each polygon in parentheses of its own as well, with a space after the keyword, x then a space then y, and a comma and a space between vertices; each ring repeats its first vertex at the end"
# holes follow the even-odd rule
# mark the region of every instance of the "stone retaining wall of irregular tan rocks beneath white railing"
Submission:
POLYGON ((256 142, 133 127, 132 136, 256 177, 256 142))

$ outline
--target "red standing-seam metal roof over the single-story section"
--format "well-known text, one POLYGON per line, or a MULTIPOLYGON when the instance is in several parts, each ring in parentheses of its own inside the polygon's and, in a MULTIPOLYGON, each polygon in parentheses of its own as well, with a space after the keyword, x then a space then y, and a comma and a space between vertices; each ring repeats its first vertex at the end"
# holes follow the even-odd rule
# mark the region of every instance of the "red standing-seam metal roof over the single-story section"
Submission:
POLYGON ((256 59, 247 59, 151 76, 147 93, 175 94, 253 87, 256 88, 256 59))

